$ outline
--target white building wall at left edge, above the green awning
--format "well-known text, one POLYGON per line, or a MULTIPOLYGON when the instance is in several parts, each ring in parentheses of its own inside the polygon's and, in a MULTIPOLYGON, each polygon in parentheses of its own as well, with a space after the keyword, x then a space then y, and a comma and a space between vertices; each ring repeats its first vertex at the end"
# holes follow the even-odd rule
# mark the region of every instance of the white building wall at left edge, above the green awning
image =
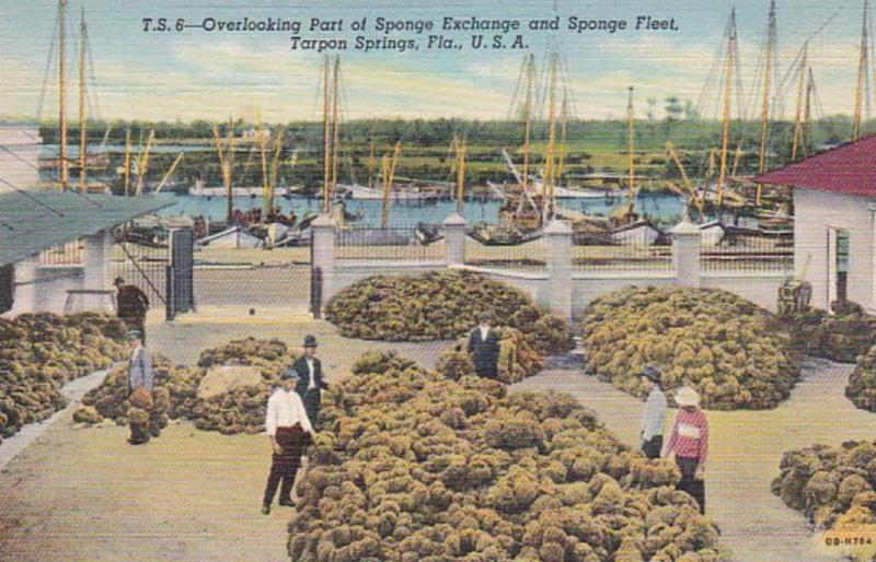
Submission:
MULTIPOLYGON (((0 145, 3 147, 0 150, 0 178, 18 188, 31 188, 38 184, 41 143, 36 125, 0 124, 0 145)), ((0 182, 0 194, 12 190, 0 182)))

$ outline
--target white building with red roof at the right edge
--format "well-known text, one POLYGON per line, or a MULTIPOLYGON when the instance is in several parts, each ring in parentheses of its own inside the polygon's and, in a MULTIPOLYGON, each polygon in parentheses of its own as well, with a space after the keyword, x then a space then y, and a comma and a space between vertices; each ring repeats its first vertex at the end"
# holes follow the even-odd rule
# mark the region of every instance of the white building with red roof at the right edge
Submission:
POLYGON ((812 284, 811 304, 876 309, 876 136, 754 179, 793 190, 794 266, 812 284))

